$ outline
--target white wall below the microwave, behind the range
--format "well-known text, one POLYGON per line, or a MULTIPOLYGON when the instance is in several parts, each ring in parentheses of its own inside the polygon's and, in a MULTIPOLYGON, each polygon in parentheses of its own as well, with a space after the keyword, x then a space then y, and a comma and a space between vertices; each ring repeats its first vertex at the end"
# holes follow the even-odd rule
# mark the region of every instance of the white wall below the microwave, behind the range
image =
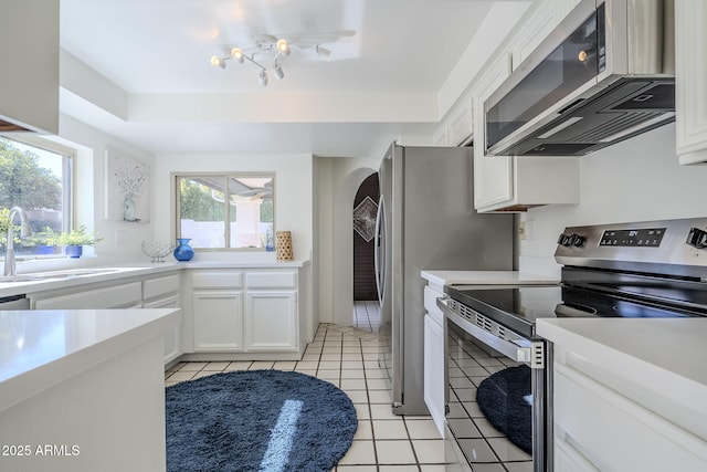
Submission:
POLYGON ((553 254, 564 227, 707 216, 707 166, 678 166, 675 125, 666 125, 580 159, 580 203, 535 208, 520 241, 526 271, 559 274, 553 254))

